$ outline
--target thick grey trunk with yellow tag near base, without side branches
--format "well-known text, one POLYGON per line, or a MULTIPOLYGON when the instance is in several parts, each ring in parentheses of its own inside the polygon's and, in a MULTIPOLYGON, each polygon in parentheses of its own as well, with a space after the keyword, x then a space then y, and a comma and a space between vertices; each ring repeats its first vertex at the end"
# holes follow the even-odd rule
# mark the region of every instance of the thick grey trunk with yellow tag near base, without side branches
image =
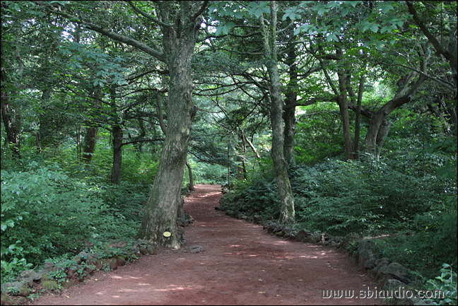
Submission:
MULTIPOLYGON (((162 15, 168 15, 167 1, 158 5, 162 15)), ((172 248, 180 248, 175 221, 192 119, 197 112, 192 100, 191 59, 201 23, 194 15, 198 5, 194 1, 182 1, 177 24, 162 27, 164 54, 170 71, 167 134, 141 228, 136 235, 172 248), (164 232, 172 235, 165 237, 164 232)))

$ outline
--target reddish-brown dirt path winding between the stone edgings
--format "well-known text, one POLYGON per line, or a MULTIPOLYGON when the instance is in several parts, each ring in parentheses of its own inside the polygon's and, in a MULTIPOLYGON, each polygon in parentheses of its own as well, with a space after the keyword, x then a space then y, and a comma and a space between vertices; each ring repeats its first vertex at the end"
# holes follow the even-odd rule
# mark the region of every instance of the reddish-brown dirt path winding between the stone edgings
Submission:
POLYGON ((382 300, 322 298, 322 290, 373 290, 375 285, 331 248, 267 234, 262 226, 216 211, 220 187, 196 185, 184 211, 196 222, 187 245, 163 249, 35 305, 382 305, 382 300), (205 252, 183 252, 201 245, 205 252))

